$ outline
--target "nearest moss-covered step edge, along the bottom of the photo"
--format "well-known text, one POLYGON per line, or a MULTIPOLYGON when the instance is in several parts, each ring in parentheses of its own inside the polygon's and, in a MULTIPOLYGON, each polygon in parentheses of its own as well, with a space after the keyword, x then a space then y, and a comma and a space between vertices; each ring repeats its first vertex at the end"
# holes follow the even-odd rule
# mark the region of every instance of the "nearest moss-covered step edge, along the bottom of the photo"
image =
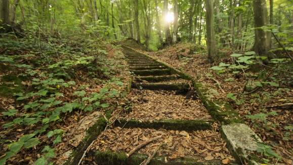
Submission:
MULTIPOLYGON (((139 165, 149 156, 146 154, 134 153, 130 157, 126 157, 125 152, 113 152, 111 150, 100 152, 97 150, 90 150, 88 157, 92 157, 93 161, 95 161, 99 165, 139 165)), ((150 165, 159 165, 159 164, 171 164, 171 165, 186 165, 186 164, 194 164, 194 165, 206 165, 206 164, 223 164, 221 160, 214 159, 205 162, 197 162, 199 157, 181 157, 169 161, 168 156, 155 156, 149 162, 150 165)), ((229 162, 229 164, 235 164, 235 162, 229 162)))

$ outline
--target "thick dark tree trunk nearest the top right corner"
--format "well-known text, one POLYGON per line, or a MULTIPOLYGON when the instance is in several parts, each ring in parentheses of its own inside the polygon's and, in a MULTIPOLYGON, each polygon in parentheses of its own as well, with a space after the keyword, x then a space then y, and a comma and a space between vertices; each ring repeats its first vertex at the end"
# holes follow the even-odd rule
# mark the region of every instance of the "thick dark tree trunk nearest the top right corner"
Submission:
POLYGON ((253 3, 255 13, 255 44, 253 50, 256 52, 256 56, 268 57, 263 60, 264 64, 268 64, 268 59, 274 58, 274 54, 268 52, 270 50, 271 33, 260 28, 269 24, 266 0, 255 0, 253 3))

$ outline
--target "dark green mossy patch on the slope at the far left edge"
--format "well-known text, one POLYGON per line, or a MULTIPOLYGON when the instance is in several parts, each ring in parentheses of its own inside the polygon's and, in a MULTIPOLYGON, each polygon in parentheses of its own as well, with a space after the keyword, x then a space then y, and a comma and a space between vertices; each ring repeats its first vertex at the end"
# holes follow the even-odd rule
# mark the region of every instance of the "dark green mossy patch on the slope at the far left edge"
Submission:
POLYGON ((1 77, 0 95, 11 97, 16 93, 25 92, 26 88, 21 84, 22 78, 13 74, 7 74, 1 77))

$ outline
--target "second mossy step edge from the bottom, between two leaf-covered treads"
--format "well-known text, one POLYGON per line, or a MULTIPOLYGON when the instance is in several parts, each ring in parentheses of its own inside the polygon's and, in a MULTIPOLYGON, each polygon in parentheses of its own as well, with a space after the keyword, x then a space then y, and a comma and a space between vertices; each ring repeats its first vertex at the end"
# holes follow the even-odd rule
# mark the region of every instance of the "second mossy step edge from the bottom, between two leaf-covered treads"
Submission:
POLYGON ((126 119, 120 119, 115 121, 115 127, 124 128, 142 128, 142 129, 160 129, 165 130, 178 130, 178 131, 197 131, 197 130, 208 130, 212 128, 212 124, 215 120, 171 120, 171 119, 160 119, 150 121, 139 121, 136 119, 131 119, 127 121, 126 119))

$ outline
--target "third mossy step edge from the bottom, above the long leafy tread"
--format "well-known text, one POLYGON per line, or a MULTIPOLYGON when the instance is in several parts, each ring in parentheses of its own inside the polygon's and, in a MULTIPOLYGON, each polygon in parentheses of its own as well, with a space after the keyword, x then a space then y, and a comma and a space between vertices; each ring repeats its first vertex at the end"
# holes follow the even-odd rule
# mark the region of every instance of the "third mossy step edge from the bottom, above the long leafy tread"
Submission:
POLYGON ((132 84, 131 88, 147 90, 176 91, 182 88, 189 88, 188 84, 132 84))

